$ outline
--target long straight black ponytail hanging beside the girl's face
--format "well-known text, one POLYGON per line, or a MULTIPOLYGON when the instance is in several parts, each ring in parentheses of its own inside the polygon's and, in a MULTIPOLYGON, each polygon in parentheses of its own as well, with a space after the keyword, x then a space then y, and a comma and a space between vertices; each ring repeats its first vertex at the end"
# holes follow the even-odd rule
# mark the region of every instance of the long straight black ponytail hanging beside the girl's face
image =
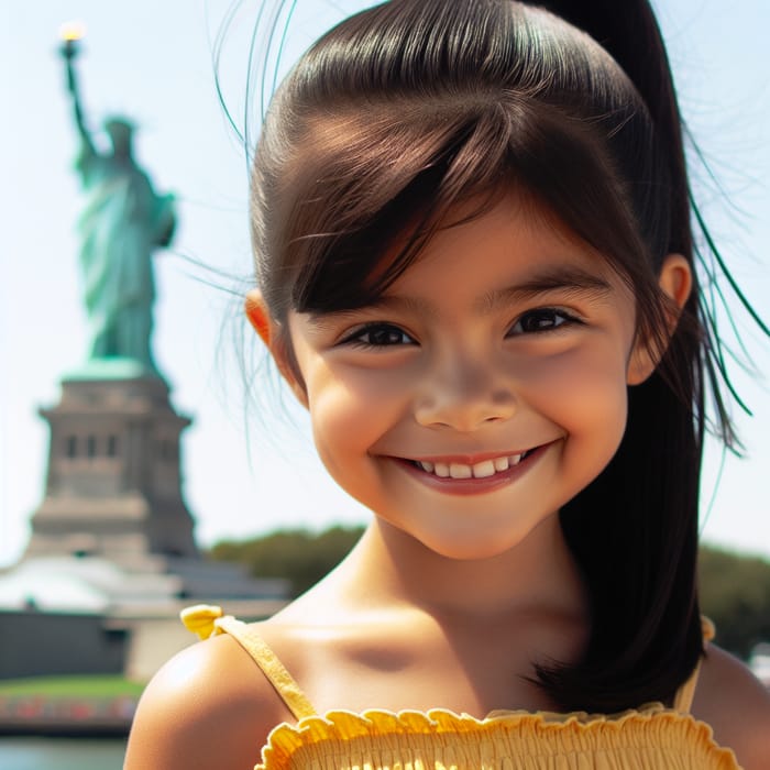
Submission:
MULTIPOLYGON (((607 51, 636 86, 668 169, 669 233, 662 260, 680 253, 695 277, 683 130, 660 29, 647 0, 547 0, 547 10, 607 51)), ((656 272, 660 263, 653 265, 656 272)), ((540 668, 569 707, 618 711, 673 700, 703 654, 696 587, 704 437, 702 298, 695 280, 658 371, 628 393, 623 443, 605 472, 561 512, 588 585, 592 635, 573 667, 540 668), (612 501, 612 505, 607 505, 612 501)), ((711 377, 715 386, 715 377, 711 377)), ((716 394, 723 435, 729 420, 716 394)))

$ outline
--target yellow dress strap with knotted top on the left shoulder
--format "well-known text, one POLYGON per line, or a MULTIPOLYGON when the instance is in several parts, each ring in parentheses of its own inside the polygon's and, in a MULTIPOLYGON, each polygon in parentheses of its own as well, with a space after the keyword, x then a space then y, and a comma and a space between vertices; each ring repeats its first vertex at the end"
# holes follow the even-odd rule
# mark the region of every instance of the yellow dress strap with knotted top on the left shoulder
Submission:
POLYGON ((317 712, 310 701, 253 626, 235 619, 232 615, 222 615, 221 607, 210 605, 184 609, 182 622, 201 638, 218 634, 232 636, 260 667, 297 721, 306 716, 316 716, 317 712))

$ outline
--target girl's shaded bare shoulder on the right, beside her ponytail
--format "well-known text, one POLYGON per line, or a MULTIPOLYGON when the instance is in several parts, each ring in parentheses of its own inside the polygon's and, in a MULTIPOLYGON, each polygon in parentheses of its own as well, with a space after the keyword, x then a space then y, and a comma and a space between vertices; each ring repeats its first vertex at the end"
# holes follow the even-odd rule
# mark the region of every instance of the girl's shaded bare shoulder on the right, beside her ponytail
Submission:
POLYGON ((725 650, 707 645, 693 715, 735 751, 745 770, 770 768, 770 691, 725 650))

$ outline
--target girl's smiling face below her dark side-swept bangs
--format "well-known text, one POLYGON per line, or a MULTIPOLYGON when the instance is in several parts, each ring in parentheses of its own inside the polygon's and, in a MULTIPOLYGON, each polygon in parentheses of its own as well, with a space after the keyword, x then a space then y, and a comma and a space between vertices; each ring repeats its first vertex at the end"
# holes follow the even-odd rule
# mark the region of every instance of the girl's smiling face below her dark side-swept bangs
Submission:
POLYGON ((651 369, 629 289, 515 196, 439 231, 376 305, 288 329, 331 475, 457 559, 507 551, 585 487, 651 369))

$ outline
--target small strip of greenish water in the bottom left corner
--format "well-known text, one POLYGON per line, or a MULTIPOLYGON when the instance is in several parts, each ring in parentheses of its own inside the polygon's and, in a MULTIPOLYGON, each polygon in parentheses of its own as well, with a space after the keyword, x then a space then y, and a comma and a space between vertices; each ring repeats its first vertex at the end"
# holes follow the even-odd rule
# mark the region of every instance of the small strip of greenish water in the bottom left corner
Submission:
POLYGON ((2 738, 2 770, 121 770, 122 738, 2 738))

